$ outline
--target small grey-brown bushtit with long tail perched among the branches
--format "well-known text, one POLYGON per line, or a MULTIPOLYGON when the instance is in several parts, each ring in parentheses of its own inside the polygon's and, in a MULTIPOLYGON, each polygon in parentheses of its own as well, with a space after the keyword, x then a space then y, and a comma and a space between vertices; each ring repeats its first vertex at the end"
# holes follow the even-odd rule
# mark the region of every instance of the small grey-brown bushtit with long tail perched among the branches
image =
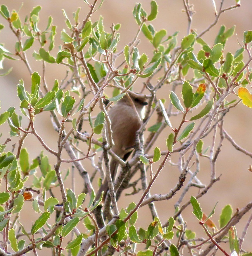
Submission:
MULTIPOLYGON (((144 101, 143 98, 125 95, 108 112, 114 141, 114 146, 111 150, 123 160, 126 160, 133 150, 136 140, 136 131, 142 124, 142 112, 144 106, 147 104, 148 103, 144 101)), ((112 158, 109 166, 114 182, 118 162, 112 158)), ((106 177, 99 188, 96 200, 99 199, 102 191, 104 191, 104 200, 108 192, 108 181, 106 177)))

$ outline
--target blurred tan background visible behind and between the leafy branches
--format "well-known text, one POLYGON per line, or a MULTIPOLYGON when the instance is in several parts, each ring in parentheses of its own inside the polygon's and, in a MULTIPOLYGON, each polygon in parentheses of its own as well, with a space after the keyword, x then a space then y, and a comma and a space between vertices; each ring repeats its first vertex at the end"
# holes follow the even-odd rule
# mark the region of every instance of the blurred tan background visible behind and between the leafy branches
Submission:
MULTIPOLYGON (((187 30, 187 16, 182 10, 184 9, 182 0, 156 0, 159 5, 159 13, 157 19, 151 22, 156 31, 160 29, 166 29, 168 35, 172 35, 175 31, 179 31, 178 42, 186 36, 187 30)), ((79 20, 82 21, 86 14, 89 11, 89 7, 81 0, 72 0, 72 1, 39 1, 39 0, 25 0, 23 1, 23 7, 19 12, 19 16, 21 20, 24 20, 25 16, 30 13, 33 7, 37 5, 42 6, 42 10, 40 12, 40 25, 41 29, 46 27, 48 17, 53 16, 53 24, 57 26, 57 34, 55 37, 55 48, 52 51, 52 55, 56 56, 58 52, 58 45, 63 44, 60 40, 60 31, 66 29, 66 25, 64 23, 64 16, 62 13, 62 9, 65 9, 68 17, 72 19, 72 13, 77 10, 78 7, 81 7, 81 11, 79 14, 79 20)), ((92 2, 92 1, 90 1, 92 2)), ((140 2, 144 9, 149 12, 150 11, 150 0, 141 0, 140 2)), ((216 0, 216 8, 219 8, 219 0, 216 0)), ((92 22, 98 20, 99 16, 102 15, 104 17, 103 23, 105 30, 110 31, 111 23, 121 24, 120 32, 120 42, 118 49, 121 49, 128 44, 134 38, 136 31, 138 29, 138 25, 134 21, 132 10, 135 5, 134 0, 106 0, 103 3, 101 9, 95 13, 91 20, 92 22)), ((197 33, 200 33, 205 28, 209 26, 214 20, 214 6, 211 0, 192 0, 191 4, 194 5, 194 10, 196 13, 193 16, 193 22, 191 28, 194 29, 197 33)), ((8 6, 9 10, 12 9, 18 10, 22 4, 22 1, 15 0, 1 0, 1 4, 5 4, 8 6)), ((235 0, 226 0, 224 2, 224 7, 228 7, 231 5, 235 5, 235 0)), ((235 53, 237 49, 240 48, 238 41, 242 42, 243 40, 243 31, 251 30, 252 24, 252 2, 250 0, 241 0, 241 6, 231 11, 227 11, 221 15, 219 22, 214 28, 212 28, 208 33, 203 36, 203 39, 209 44, 209 46, 213 46, 214 39, 219 31, 221 25, 225 25, 227 28, 231 28, 236 25, 235 33, 231 38, 228 39, 226 43, 226 47, 224 49, 224 55, 226 52, 230 51, 232 54, 235 53)), ((6 21, 0 17, 0 23, 4 24, 5 28, 0 32, 0 42, 5 44, 5 47, 14 52, 14 46, 16 42, 16 38, 11 30, 8 28, 8 24, 6 21)), ((67 29, 66 29, 67 30, 67 29)), ((138 48, 140 53, 146 53, 151 56, 152 46, 149 41, 140 34, 139 38, 141 39, 141 43, 138 48)), ((28 56, 29 62, 31 64, 31 68, 33 71, 37 71, 39 74, 42 73, 42 63, 36 62, 31 54, 36 49, 38 51, 39 45, 38 43, 34 44, 32 48, 28 49, 26 55, 28 56)), ((245 55, 246 53, 244 53, 245 55)), ((11 66, 13 66, 12 72, 6 76, 0 78, 0 100, 1 100, 1 113, 6 111, 9 106, 19 107, 19 99, 16 96, 16 85, 19 80, 22 78, 24 80, 24 84, 26 88, 30 86, 30 76, 29 73, 21 61, 10 61, 5 59, 4 61, 4 71, 8 70, 11 66)), ((63 65, 57 64, 48 64, 46 65, 46 79, 49 88, 53 87, 54 79, 58 79, 61 81, 65 74, 66 68, 63 65)), ((2 71, 3 72, 3 71, 2 71)), ((143 79, 144 81, 144 79, 143 79)), ((142 87, 142 82, 140 79, 138 80, 139 88, 142 87)), ((136 86, 134 90, 138 90, 136 86)), ((161 91, 162 98, 169 99, 170 88, 165 87, 161 91)), ((251 136, 251 126, 252 126, 252 110, 242 104, 239 104, 235 109, 232 108, 225 116, 224 128, 226 131, 234 138, 234 140, 243 148, 248 151, 252 151, 252 136, 251 136)), ((155 119, 153 119, 155 121, 155 119)), ((176 117, 171 118, 172 123, 178 123, 179 119, 176 117)), ((88 124, 87 124, 88 125, 88 124)), ((151 124, 150 124, 151 126, 151 124)), ((176 125, 175 125, 176 126, 176 125)), ((35 127, 37 132, 44 139, 45 143, 51 147, 52 149, 56 149, 56 138, 57 133, 54 131, 51 122, 49 120, 48 113, 41 113, 39 117, 36 118, 35 127)), ((83 128, 85 129, 85 128, 83 128)), ((0 132, 3 133, 1 138, 1 143, 6 140, 9 136, 8 134, 9 127, 8 125, 0 126, 0 132)), ((167 138, 167 135, 170 133, 168 128, 163 131, 162 136, 156 142, 156 145, 160 147, 161 150, 166 149, 166 145, 164 143, 164 139, 167 138)), ((147 135, 146 135, 147 136, 147 135)), ((207 144, 210 143, 211 138, 204 141, 204 148, 206 148, 207 144)), ((16 138, 12 138, 12 141, 8 143, 9 150, 12 149, 12 145, 16 143, 16 138)), ((38 141, 34 138, 34 136, 28 136, 24 142, 24 146, 28 149, 30 159, 35 158, 39 155, 43 148, 38 143, 38 141)), ((68 159, 66 153, 64 153, 64 158, 68 159)), ((49 155, 50 164, 53 166, 55 164, 55 158, 49 155)), ((233 146, 229 143, 229 141, 224 140, 223 147, 221 148, 221 153, 218 157, 217 165, 216 165, 216 175, 220 175, 221 179, 219 182, 216 182, 211 190, 202 197, 199 202, 201 203, 201 207, 203 211, 208 213, 212 210, 215 203, 218 201, 218 205, 215 210, 215 215, 213 216, 213 221, 218 226, 219 215, 221 213, 221 209, 228 203, 232 205, 233 210, 236 208, 242 208, 245 204, 251 201, 251 181, 252 181, 252 173, 248 171, 249 164, 251 164, 251 158, 245 156, 243 153, 236 151, 233 146)), ((92 167, 90 161, 83 161, 84 168, 91 175, 92 167)), ((63 168, 68 168, 69 166, 63 166, 63 168)), ((156 165, 158 167, 158 165, 156 165)), ((76 170, 75 170, 76 171, 76 170)), ((209 182, 209 173, 210 167, 209 162, 206 158, 201 159, 201 169, 198 177, 205 184, 209 182)), ((82 179, 79 178, 79 174, 76 171, 76 179, 75 179, 75 191, 76 194, 79 194, 83 189, 82 179)), ((168 193, 171 188, 177 183, 179 177, 178 170, 169 166, 168 164, 163 169, 161 175, 157 179, 153 188, 151 189, 151 193, 165 194, 168 193)), ((133 178, 136 180, 138 176, 133 178)), ((66 187, 71 188, 71 177, 69 176, 69 180, 65 182, 66 187)), ((94 185, 97 187, 97 185, 94 185)), ((140 187, 141 184, 138 185, 140 187)), ((131 192, 129 190, 129 192, 131 192)), ((188 197, 184 199, 186 202, 189 199, 189 195, 196 195, 198 193, 198 189, 190 188, 188 193, 188 197)), ((159 217, 161 222, 166 222, 167 219, 174 214, 174 203, 178 200, 178 195, 175 195, 173 199, 169 201, 157 202, 156 207, 158 209, 159 217)), ((55 195, 59 195, 58 191, 55 192, 55 195)), ((120 207, 127 207, 128 204, 132 201, 137 202, 139 198, 139 194, 131 195, 128 197, 121 197, 119 200, 120 207)), ((21 218, 23 221, 27 222, 27 228, 29 229, 32 225, 32 221, 34 222, 38 215, 33 212, 33 210, 29 210, 32 207, 31 202, 26 202, 24 207, 27 211, 23 211, 21 213, 21 218)), ((187 226, 189 229, 193 231, 197 230, 197 237, 205 237, 204 232, 198 227, 198 221, 191 213, 192 207, 189 206, 184 211, 183 217, 187 222, 187 226)), ((250 213, 249 213, 250 214, 250 213)), ((247 222, 249 214, 245 215, 241 222, 237 225, 238 237, 241 235, 243 227, 247 222)), ((148 223, 151 221, 151 215, 149 213, 148 206, 140 208, 138 216, 141 218, 138 219, 138 226, 143 228, 147 228, 148 223)), ((251 251, 251 241, 252 239, 252 227, 249 227, 247 236, 244 242, 244 249, 251 251)), ((41 254, 42 255, 42 254, 41 254)))

